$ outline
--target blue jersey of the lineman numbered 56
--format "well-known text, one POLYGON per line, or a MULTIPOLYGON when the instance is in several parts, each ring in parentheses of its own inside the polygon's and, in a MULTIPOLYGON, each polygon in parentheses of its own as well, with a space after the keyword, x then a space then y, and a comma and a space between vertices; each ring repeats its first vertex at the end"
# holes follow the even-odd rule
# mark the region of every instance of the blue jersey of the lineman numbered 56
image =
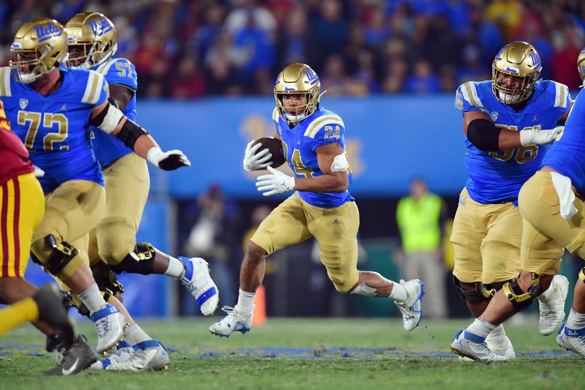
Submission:
MULTIPOLYGON (((496 127, 510 130, 553 129, 571 106, 569 88, 558 82, 542 80, 526 105, 515 111, 500 102, 491 89, 491 80, 466 82, 457 88, 455 106, 461 111, 483 111, 496 127)), ((507 151, 481 151, 465 139, 465 167, 469 196, 484 205, 514 202, 518 192, 541 166, 548 145, 529 145, 507 151)))

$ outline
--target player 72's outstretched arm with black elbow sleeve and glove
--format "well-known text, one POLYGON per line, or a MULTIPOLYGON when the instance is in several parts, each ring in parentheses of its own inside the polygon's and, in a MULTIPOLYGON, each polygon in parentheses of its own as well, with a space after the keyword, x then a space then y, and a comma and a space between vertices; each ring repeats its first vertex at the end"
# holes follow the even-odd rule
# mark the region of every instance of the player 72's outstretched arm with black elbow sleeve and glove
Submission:
POLYGON ((138 156, 157 167, 171 171, 190 166, 187 156, 180 150, 163 152, 144 128, 128 119, 122 111, 105 101, 91 110, 90 125, 123 141, 138 156))

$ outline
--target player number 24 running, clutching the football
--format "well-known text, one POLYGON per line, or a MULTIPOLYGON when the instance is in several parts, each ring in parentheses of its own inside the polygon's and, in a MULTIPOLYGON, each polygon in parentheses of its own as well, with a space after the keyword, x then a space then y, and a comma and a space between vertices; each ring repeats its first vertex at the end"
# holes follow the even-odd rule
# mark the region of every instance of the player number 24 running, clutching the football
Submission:
POLYGON ((421 317, 423 283, 418 279, 400 283, 377 272, 357 270, 357 230, 359 211, 347 191, 353 180, 347 164, 343 121, 319 105, 321 82, 305 64, 288 65, 274 85, 272 118, 275 137, 283 143, 284 157, 295 172, 288 176, 270 167, 268 149, 251 141, 244 157, 244 168, 267 168, 256 186, 269 196, 294 191, 260 224, 246 247, 240 270, 240 292, 234 308, 223 307, 228 315, 209 327, 211 333, 229 336, 246 333, 252 327, 254 295, 264 278, 269 254, 286 246, 315 237, 321 262, 337 291, 392 299, 404 317, 404 329, 418 326, 421 317))

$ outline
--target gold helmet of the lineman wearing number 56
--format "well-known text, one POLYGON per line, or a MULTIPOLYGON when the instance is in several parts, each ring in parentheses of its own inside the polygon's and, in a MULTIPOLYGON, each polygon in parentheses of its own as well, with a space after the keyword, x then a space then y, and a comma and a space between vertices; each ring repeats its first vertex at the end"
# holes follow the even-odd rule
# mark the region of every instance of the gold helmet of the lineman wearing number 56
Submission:
POLYGON ((526 42, 512 42, 504 46, 495 56, 491 66, 492 90, 503 103, 512 104, 526 100, 534 92, 536 81, 542 70, 541 56, 534 46, 526 42), (509 89, 498 84, 500 75, 512 75, 522 82, 520 90, 509 89))

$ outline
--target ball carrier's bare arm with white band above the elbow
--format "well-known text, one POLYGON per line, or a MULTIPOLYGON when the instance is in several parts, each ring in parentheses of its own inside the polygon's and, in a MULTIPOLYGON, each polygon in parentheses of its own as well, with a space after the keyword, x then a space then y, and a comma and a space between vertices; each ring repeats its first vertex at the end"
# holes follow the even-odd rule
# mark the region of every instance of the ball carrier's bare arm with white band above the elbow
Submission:
POLYGON ((317 147, 317 162, 322 176, 295 178, 294 189, 307 192, 344 192, 349 185, 347 160, 341 144, 333 142, 317 147))

